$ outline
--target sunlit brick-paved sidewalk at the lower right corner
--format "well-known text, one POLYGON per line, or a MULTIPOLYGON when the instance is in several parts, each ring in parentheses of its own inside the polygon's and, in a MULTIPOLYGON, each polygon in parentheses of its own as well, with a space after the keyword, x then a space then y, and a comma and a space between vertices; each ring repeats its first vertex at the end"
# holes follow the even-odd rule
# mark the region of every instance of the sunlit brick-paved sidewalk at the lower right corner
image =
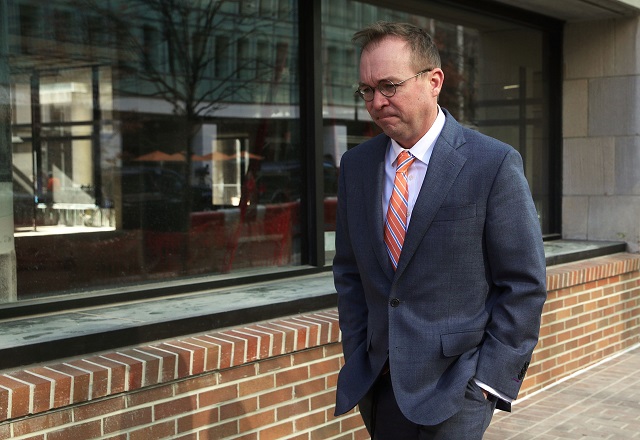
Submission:
POLYGON ((639 439, 640 345, 498 411, 484 440, 639 439))

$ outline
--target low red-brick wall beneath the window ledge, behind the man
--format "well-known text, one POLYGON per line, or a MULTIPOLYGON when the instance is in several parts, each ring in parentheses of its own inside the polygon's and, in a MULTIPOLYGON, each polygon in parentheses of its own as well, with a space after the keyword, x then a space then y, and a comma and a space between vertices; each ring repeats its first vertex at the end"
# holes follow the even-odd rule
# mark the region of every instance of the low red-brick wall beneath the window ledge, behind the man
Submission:
MULTIPOLYGON (((521 396, 640 342, 640 255, 548 268, 521 396)), ((0 372, 0 439, 361 439, 336 310, 0 372)))

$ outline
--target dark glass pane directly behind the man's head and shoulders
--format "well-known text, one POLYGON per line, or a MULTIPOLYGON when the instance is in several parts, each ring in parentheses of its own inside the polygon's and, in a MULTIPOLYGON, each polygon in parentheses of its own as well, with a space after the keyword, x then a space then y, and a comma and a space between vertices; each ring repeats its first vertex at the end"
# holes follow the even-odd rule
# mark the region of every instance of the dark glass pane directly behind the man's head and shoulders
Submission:
MULTIPOLYGON (((438 6, 437 11, 431 11, 427 2, 422 14, 415 9, 404 12, 402 3, 397 2, 384 8, 323 0, 322 6, 324 148, 332 163, 339 165, 347 149, 381 133, 364 102, 354 97, 359 54, 351 36, 378 20, 413 23, 427 30, 440 49, 445 73, 440 105, 461 124, 500 139, 521 153, 543 233, 553 232, 549 230, 549 102, 545 83, 549 75, 543 32, 455 8, 438 6)), ((333 203, 330 198, 325 200, 327 259, 333 252, 333 203)))

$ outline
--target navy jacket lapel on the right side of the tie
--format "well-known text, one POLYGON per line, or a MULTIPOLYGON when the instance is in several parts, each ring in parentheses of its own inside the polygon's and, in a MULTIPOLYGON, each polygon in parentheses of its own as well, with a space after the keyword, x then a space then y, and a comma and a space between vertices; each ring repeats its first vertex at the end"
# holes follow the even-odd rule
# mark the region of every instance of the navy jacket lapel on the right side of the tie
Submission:
POLYGON ((464 144, 462 127, 446 112, 446 122, 429 161, 420 194, 411 214, 395 276, 399 277, 415 254, 442 202, 467 160, 457 148, 464 144))

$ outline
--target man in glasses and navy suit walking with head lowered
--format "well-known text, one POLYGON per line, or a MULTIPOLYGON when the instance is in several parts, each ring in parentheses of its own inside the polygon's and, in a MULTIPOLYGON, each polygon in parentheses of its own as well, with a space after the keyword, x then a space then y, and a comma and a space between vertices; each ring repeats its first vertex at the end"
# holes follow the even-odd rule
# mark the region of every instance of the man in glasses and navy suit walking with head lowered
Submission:
POLYGON ((423 30, 380 22, 354 41, 356 93, 384 134, 341 160, 336 415, 359 405, 378 440, 481 439, 517 397, 546 299, 522 159, 438 105, 423 30))

